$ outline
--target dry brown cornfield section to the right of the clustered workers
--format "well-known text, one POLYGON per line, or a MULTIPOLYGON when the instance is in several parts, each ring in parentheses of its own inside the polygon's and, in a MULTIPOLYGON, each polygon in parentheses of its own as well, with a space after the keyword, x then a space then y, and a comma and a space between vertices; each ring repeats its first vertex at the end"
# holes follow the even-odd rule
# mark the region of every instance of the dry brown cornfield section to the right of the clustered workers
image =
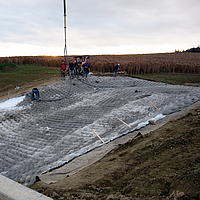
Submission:
POLYGON ((120 71, 128 74, 200 73, 198 53, 99 55, 91 56, 89 61, 97 72, 112 72, 120 63, 120 71))

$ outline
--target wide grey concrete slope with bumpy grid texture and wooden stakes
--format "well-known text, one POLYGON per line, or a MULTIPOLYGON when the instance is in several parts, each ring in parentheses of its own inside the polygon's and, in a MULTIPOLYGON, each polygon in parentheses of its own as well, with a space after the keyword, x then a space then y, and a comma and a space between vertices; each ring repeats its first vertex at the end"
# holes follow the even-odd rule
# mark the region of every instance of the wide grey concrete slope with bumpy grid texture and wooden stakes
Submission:
POLYGON ((0 173, 26 186, 37 175, 103 145, 102 140, 109 142, 200 100, 199 87, 130 77, 66 80, 39 92, 40 99, 53 101, 31 101, 27 94, 15 109, 0 109, 0 173))

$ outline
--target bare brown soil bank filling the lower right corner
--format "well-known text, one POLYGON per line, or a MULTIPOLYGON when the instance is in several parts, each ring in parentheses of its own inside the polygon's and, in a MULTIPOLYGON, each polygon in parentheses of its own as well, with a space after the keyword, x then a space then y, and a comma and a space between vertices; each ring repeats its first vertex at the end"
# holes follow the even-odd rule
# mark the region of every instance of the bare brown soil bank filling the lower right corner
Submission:
POLYGON ((57 183, 32 189, 53 199, 200 199, 200 106, 57 183))

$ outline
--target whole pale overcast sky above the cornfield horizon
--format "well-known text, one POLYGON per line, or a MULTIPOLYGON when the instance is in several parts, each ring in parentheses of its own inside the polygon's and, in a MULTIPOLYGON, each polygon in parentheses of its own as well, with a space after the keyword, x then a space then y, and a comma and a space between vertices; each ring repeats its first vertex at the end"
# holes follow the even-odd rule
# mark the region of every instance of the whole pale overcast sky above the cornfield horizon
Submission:
MULTIPOLYGON (((1 0, 0 56, 63 55, 63 15, 63 0, 1 0)), ((68 0, 68 55, 197 47, 199 19, 200 0, 68 0)))

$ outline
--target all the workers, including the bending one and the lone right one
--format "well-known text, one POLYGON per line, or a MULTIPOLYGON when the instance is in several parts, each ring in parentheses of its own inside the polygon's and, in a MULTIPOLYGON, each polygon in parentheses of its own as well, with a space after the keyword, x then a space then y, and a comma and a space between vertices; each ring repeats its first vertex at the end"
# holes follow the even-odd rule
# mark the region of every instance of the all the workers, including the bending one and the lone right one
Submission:
MULTIPOLYGON (((120 64, 117 64, 113 68, 113 77, 117 76, 117 70, 119 69, 120 64)), ((83 77, 86 75, 86 78, 89 73, 89 68, 90 64, 86 60, 85 62, 82 63, 83 67, 83 77)), ((79 73, 81 70, 81 65, 74 60, 74 62, 70 61, 69 62, 69 74, 70 78, 74 79, 74 76, 79 78, 79 73)), ((65 62, 63 61, 62 64, 60 65, 60 71, 61 71, 61 80, 65 80, 65 73, 67 71, 67 67, 65 65, 65 62)), ((37 101, 39 101, 39 91, 37 88, 33 88, 32 93, 31 93, 31 100, 34 100, 34 96, 36 95, 37 101)))

